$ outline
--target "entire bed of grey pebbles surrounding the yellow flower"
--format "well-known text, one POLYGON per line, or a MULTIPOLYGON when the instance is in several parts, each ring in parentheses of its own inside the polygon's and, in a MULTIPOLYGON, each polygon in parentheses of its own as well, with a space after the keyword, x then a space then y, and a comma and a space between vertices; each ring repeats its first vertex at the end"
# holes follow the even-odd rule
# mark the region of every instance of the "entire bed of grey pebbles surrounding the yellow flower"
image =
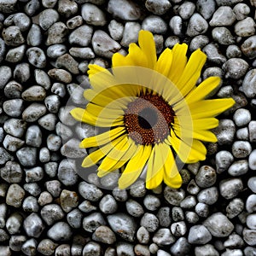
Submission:
MULTIPOLYGON (((0 0, 0 255, 256 255, 255 0, 0 0), (157 52, 201 48, 223 79, 205 162, 183 186, 117 189, 78 175, 89 63, 110 67, 141 30, 157 52), (83 84, 81 87, 79 84, 83 84)), ((203 109, 202 109, 203 111, 203 109)))

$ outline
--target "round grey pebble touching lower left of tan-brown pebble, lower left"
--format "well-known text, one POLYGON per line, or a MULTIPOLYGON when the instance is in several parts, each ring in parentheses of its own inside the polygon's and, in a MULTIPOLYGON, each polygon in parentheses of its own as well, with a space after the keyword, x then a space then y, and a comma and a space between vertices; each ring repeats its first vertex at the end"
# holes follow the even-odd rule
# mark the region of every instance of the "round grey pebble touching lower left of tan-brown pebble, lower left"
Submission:
POLYGON ((64 212, 57 204, 49 204, 42 208, 41 216, 48 225, 54 224, 57 220, 64 217, 64 212))

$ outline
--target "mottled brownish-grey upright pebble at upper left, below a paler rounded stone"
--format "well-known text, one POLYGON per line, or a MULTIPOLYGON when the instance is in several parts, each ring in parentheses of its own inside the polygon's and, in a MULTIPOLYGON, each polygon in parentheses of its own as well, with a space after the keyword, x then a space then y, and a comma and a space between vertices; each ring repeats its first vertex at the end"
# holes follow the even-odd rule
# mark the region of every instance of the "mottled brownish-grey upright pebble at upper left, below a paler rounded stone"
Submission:
POLYGON ((53 26, 49 27, 48 38, 45 44, 62 44, 67 40, 67 33, 67 26, 63 22, 56 22, 53 26))

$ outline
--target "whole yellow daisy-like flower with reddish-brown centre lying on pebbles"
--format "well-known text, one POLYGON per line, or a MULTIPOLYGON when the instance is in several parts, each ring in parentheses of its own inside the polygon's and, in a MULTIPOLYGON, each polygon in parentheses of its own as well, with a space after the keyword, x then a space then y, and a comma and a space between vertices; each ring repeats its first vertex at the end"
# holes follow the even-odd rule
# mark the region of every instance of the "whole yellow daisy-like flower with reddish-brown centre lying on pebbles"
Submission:
POLYGON ((112 69, 90 65, 91 89, 84 90, 86 108, 74 108, 73 118, 107 131, 84 138, 81 148, 98 147, 82 166, 101 162, 98 176, 122 167, 119 188, 125 189, 147 168, 146 188, 164 181, 179 188, 182 178, 175 157, 183 163, 206 159, 203 142, 217 142, 211 129, 233 99, 206 99, 220 79, 196 86, 207 56, 195 50, 187 60, 187 44, 165 49, 157 59, 151 32, 139 32, 138 45, 126 56, 116 53, 112 69))

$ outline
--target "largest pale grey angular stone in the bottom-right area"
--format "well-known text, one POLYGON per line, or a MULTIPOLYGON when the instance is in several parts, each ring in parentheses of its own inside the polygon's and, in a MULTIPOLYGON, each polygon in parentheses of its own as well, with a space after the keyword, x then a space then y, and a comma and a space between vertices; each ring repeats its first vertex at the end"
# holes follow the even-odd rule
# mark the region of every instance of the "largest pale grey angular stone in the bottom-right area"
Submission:
POLYGON ((203 224, 211 232, 212 236, 216 237, 230 236, 230 233, 234 230, 234 225, 221 212, 213 213, 203 224))

